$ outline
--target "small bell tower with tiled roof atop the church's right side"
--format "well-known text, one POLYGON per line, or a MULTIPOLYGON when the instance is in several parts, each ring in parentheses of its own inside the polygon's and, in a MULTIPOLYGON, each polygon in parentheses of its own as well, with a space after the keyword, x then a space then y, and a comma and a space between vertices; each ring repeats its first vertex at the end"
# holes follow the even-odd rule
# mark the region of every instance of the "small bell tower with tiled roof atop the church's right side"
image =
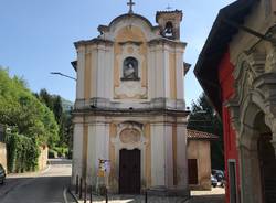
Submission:
POLYGON ((180 10, 158 11, 156 22, 161 28, 161 35, 170 40, 180 40, 180 22, 183 13, 180 10))

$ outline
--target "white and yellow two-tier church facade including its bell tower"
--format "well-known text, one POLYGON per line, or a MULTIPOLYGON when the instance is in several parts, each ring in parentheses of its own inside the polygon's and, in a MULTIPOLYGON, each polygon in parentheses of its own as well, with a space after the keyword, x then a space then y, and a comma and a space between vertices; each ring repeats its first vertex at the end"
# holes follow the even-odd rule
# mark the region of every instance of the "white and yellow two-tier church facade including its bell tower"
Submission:
POLYGON ((73 184, 82 177, 97 186, 106 160, 112 193, 188 192, 181 20, 161 11, 152 25, 130 9, 75 43, 73 184))

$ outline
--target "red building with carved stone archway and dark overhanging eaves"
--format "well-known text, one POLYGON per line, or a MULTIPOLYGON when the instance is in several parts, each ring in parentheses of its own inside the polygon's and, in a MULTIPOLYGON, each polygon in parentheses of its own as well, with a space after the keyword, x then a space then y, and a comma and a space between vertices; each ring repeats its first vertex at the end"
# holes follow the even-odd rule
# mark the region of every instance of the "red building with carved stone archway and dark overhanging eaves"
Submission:
POLYGON ((194 74, 223 120, 226 200, 276 202, 276 1, 223 8, 194 74))

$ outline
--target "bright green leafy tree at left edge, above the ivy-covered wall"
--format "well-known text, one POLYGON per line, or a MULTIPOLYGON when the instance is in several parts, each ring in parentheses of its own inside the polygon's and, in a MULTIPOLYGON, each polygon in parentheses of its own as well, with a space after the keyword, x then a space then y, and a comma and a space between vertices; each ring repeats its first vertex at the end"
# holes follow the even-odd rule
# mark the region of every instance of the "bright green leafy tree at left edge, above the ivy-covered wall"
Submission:
POLYGON ((0 67, 0 124, 38 139, 40 145, 59 141, 59 126, 53 113, 28 89, 26 83, 0 67))

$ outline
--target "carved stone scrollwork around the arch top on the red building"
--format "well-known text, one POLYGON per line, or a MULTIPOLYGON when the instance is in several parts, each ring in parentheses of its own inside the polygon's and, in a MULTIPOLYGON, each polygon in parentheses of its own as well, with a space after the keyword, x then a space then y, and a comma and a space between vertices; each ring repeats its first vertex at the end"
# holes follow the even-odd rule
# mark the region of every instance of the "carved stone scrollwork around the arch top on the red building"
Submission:
POLYGON ((251 125, 248 116, 254 117, 252 109, 257 106, 265 114, 265 124, 274 135, 272 142, 276 147, 276 49, 272 47, 276 46, 266 50, 267 54, 254 51, 240 55, 233 73, 235 95, 226 106, 237 139, 245 133, 246 125, 251 125), (247 109, 251 109, 250 115, 247 109))

